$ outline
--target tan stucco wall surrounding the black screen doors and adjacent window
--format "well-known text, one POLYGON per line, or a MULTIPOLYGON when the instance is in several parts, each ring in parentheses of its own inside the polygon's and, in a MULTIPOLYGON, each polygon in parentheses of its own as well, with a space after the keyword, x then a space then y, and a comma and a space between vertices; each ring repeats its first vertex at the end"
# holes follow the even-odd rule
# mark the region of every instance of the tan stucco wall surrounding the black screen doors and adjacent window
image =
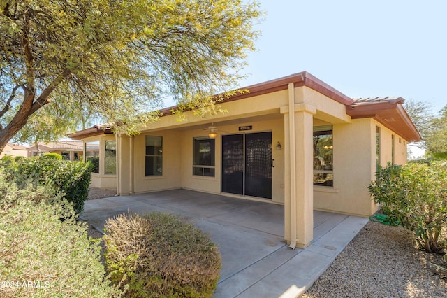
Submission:
MULTIPOLYGON (((240 126, 251 125, 252 130, 245 133, 272 132, 272 201, 284 204, 284 123, 281 119, 243 122, 235 125, 219 126, 219 134, 216 137, 215 177, 193 176, 193 138, 207 136, 203 129, 187 130, 182 132, 182 187, 201 192, 221 193, 221 134, 241 134, 240 126), (224 133, 221 133, 224 132, 224 133), (277 143, 283 146, 282 150, 276 150, 277 143)), ((237 196, 236 196, 237 197, 237 196)))

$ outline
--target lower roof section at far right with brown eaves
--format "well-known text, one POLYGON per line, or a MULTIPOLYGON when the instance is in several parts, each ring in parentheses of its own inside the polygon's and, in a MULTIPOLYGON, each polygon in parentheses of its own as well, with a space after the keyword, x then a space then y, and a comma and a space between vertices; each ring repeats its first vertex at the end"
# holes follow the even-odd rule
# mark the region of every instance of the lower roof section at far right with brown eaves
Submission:
POLYGON ((402 97, 358 98, 346 106, 346 113, 352 119, 374 118, 407 141, 421 141, 418 129, 402 106, 404 101, 402 97))

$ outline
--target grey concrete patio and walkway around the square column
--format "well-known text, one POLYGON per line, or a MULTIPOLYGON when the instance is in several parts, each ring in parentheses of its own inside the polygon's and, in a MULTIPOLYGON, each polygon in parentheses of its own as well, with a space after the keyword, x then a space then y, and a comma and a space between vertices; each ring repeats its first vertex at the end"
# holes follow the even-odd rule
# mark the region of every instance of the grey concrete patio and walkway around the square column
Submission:
POLYGON ((119 213, 177 213, 210 234, 222 257, 214 297, 298 297, 367 223, 367 218, 314 211, 314 241, 291 250, 284 206, 190 190, 85 201, 82 217, 102 231, 119 213))

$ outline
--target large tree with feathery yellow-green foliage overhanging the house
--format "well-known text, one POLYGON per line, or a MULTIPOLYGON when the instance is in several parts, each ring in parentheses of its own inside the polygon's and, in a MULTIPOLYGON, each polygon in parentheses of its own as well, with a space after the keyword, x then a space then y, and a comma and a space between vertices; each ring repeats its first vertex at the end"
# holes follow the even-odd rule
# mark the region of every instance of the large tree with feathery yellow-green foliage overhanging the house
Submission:
POLYGON ((0 148, 50 101, 122 121, 166 96, 210 106, 259 16, 242 0, 0 0, 0 148))

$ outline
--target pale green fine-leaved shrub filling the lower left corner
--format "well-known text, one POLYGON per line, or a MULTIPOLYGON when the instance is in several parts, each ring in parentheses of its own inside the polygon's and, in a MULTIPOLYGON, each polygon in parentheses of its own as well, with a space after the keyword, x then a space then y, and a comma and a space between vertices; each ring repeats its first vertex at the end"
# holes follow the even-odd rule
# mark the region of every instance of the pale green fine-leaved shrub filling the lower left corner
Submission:
POLYGON ((50 185, 17 187, 0 169, 0 297, 122 296, 101 246, 62 201, 50 185))

